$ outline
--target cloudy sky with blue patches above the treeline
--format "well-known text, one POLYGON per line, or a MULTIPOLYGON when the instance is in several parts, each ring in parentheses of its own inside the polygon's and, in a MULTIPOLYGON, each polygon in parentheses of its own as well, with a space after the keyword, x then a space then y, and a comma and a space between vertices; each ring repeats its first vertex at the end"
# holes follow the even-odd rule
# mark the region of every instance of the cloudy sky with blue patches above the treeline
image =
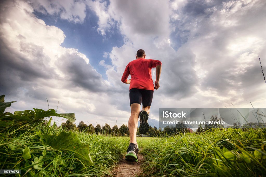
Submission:
POLYGON ((266 107, 264 0, 9 0, 0 9, 0 94, 17 101, 7 111, 47 110, 48 99, 76 124, 127 124, 121 77, 138 49, 162 62, 153 119, 159 108, 266 107))

